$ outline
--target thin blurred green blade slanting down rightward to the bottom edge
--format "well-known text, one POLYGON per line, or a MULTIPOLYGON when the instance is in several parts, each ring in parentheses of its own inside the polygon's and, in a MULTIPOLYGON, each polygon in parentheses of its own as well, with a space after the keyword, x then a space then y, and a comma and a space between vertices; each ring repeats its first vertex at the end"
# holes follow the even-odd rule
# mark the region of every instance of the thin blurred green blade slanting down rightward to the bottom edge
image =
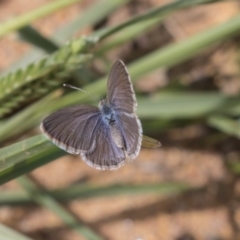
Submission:
POLYGON ((18 182, 27 191, 27 194, 30 198, 32 198, 36 203, 54 212, 67 226, 80 233, 86 239, 103 240, 103 238, 93 232, 92 229, 80 223, 75 216, 73 216, 69 211, 65 210, 54 198, 48 195, 48 193, 40 192, 40 189, 37 187, 37 185, 34 184, 29 178, 21 177, 18 179, 18 182))

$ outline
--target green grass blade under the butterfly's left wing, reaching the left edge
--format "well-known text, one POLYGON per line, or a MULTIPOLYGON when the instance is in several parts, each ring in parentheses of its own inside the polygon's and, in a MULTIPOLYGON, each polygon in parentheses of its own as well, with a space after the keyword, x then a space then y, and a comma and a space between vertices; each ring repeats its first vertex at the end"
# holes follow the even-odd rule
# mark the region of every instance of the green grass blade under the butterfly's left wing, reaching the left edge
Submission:
MULTIPOLYGON (((146 147, 159 146, 158 141, 149 138, 146 147), (149 144, 149 139, 151 144, 149 144)), ((144 140, 144 138, 143 138, 144 140)), ((142 143, 144 145, 144 141, 142 143)), ((50 161, 67 154, 56 147, 44 135, 37 135, 27 140, 0 149, 0 184, 26 174, 50 161)))

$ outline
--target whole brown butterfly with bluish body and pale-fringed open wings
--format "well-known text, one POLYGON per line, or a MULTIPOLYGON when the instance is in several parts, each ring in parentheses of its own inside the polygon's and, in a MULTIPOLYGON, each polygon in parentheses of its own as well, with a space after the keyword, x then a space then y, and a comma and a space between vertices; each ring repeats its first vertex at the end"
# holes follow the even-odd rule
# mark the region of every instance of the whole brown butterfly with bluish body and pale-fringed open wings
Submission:
POLYGON ((117 60, 109 73, 107 96, 99 106, 77 105, 60 109, 41 124, 55 145, 80 155, 89 166, 114 170, 140 152, 142 125, 125 64, 117 60))

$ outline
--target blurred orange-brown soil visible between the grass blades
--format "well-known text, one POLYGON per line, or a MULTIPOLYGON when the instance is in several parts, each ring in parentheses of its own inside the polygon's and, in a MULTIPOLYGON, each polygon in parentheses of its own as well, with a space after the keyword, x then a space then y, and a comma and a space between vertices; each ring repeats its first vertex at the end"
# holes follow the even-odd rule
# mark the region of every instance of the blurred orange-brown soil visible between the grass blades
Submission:
MULTIPOLYGON (((29 12, 47 2, 51 1, 0 1, 0 21, 29 12)), ((82 1, 34 22, 33 26, 50 36, 94 2, 82 1)), ((135 1, 109 16, 106 24, 116 24, 133 14, 167 2, 170 1, 135 1)), ((240 5, 237 1, 180 11, 167 18, 158 31, 141 36, 134 43, 124 44, 120 50, 112 52, 109 58, 129 61, 134 58, 129 53, 136 53, 136 44, 139 52, 147 52, 150 51, 149 46, 186 39, 239 12, 240 5)), ((91 30, 85 29, 84 33, 91 30)), ((29 45, 18 41, 15 34, 0 39, 0 46, 0 71, 7 69, 30 50, 29 45)), ((212 76, 217 69, 215 85, 228 94, 239 94, 240 81, 236 73, 238 66, 234 53, 235 45, 231 42, 224 43, 206 55, 199 56, 199 61, 173 69, 172 74, 185 73, 185 79, 198 83, 199 74, 212 76), (226 81, 226 74, 233 77, 226 81)), ((159 70, 143 78, 136 88, 152 91, 164 86, 167 81, 166 75, 159 70)), ((97 171, 86 166, 79 158, 66 156, 33 171, 31 175, 48 189, 66 187, 76 182, 102 186, 169 181, 187 183, 195 188, 194 191, 177 196, 125 195, 74 200, 66 204, 83 222, 109 240, 239 239, 240 182, 225 167, 226 161, 239 158, 239 141, 230 138, 224 144, 216 146, 214 140, 208 139, 208 133, 206 126, 198 124, 159 132, 155 137, 162 142, 162 148, 142 149, 134 162, 118 171, 97 171)), ((19 189, 19 186, 16 181, 12 181, 0 189, 19 189)), ((0 222, 33 239, 83 239, 66 228, 49 210, 38 206, 1 206, 0 222)))

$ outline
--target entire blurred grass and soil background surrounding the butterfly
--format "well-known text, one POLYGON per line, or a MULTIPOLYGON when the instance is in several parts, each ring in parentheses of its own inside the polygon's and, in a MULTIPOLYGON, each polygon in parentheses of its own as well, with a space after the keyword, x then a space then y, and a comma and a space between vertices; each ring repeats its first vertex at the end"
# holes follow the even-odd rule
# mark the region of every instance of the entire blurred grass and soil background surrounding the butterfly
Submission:
POLYGON ((239 239, 239 14, 230 0, 1 0, 0 239, 239 239), (162 147, 98 171, 39 124, 97 105, 62 83, 102 97, 116 59, 162 147))

